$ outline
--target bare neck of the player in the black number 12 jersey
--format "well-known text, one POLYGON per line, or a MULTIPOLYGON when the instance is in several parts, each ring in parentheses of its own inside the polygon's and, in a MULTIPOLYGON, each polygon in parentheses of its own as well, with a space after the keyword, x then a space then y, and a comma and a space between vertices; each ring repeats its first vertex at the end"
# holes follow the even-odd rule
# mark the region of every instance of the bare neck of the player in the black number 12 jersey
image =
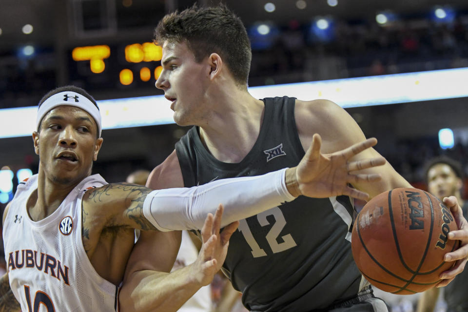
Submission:
POLYGON ((260 132, 265 105, 248 92, 224 94, 209 122, 200 125, 201 141, 216 159, 240 162, 250 152, 260 132))

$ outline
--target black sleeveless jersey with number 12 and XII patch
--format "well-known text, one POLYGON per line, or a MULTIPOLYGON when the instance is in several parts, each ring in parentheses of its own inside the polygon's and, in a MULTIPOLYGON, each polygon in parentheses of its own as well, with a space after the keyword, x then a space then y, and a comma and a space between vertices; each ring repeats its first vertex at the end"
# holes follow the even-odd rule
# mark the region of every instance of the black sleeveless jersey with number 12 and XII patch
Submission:
MULTIPOLYGON (((294 120, 295 98, 265 98, 263 123, 239 163, 215 159, 193 127, 176 143, 184 185, 257 176, 296 166, 305 152, 294 120)), ((351 255, 353 206, 347 196, 299 196, 240 220, 223 270, 251 311, 310 312, 356 295, 361 274, 351 255)))

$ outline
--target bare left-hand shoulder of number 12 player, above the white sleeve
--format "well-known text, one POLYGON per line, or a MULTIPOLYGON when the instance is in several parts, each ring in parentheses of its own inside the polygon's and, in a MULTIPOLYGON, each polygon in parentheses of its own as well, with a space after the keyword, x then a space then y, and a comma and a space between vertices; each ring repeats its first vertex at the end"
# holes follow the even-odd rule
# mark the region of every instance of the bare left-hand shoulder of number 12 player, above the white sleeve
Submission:
POLYGON ((151 171, 146 186, 154 190, 184 186, 182 170, 175 150, 151 171))

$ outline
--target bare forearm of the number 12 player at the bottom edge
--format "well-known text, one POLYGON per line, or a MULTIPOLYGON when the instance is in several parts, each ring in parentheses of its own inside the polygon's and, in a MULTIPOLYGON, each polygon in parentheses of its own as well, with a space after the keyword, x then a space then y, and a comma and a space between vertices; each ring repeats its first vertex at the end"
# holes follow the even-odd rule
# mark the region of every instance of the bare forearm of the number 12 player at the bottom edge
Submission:
POLYGON ((190 278, 192 265, 172 273, 138 271, 119 293, 121 312, 176 312, 201 284, 190 278))

